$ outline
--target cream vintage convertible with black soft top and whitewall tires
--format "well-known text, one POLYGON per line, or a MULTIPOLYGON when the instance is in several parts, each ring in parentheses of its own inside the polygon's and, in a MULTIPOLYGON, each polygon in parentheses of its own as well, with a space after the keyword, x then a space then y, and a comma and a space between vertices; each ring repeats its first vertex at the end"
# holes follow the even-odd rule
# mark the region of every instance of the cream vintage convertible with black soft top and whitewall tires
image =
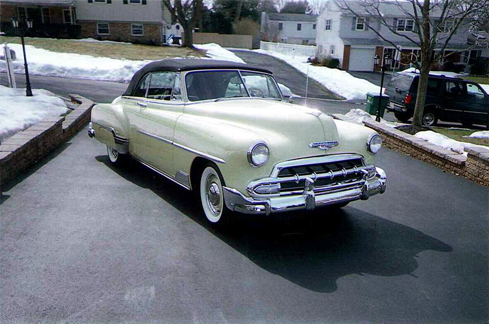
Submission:
POLYGON ((93 107, 88 131, 113 164, 130 155, 197 191, 213 223, 231 211, 344 206, 385 191, 374 130, 287 102, 272 73, 250 65, 152 62, 122 96, 93 107))

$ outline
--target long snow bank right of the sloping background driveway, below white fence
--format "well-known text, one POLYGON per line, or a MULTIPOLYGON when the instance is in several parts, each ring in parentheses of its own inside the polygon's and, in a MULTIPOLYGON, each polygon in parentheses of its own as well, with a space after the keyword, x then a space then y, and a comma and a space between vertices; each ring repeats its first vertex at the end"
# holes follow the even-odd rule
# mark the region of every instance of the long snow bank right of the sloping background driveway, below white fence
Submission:
POLYGON ((309 77, 326 86, 334 93, 345 97, 347 100, 365 101, 367 92, 380 92, 379 86, 367 80, 356 78, 346 71, 326 66, 311 65, 307 63, 307 56, 291 56, 263 49, 256 49, 254 51, 281 59, 304 74, 308 74, 309 69, 309 77))

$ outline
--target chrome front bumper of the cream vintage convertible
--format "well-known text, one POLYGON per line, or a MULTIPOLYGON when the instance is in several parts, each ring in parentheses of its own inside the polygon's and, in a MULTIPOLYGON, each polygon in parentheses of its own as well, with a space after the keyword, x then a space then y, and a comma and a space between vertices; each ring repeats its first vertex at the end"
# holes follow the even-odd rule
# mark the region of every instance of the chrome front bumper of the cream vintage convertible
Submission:
POLYGON ((365 180, 361 188, 348 189, 344 191, 315 194, 313 190, 314 181, 306 181, 304 192, 292 196, 276 196, 270 198, 253 198, 247 197, 239 191, 223 187, 224 201, 227 208, 244 213, 270 215, 271 213, 289 212, 294 210, 314 210, 317 207, 323 207, 338 203, 349 202, 353 200, 366 200, 374 194, 383 194, 385 192, 385 182, 387 177, 385 172, 376 167, 376 175, 365 180))

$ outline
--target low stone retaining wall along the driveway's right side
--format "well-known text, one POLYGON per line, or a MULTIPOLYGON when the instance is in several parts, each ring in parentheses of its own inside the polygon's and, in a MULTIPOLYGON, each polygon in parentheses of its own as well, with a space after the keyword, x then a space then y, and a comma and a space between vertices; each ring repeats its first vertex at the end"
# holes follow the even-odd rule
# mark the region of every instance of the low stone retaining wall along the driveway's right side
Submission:
POLYGON ((487 150, 472 149, 465 157, 378 122, 366 121, 364 124, 377 130, 382 136, 383 145, 389 149, 411 155, 445 171, 489 186, 489 151, 487 150))

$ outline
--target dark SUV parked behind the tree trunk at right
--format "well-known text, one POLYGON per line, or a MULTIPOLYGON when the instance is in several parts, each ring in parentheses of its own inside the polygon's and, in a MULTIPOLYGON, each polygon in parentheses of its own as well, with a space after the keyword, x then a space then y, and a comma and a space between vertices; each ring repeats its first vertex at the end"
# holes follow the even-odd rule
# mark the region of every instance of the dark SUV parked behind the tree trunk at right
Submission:
MULTIPOLYGON (((387 109, 394 111, 402 122, 413 117, 418 80, 418 73, 398 72, 385 88, 385 94, 389 95, 387 109)), ((489 95, 475 82, 430 75, 422 122, 433 126, 439 120, 462 123, 466 127, 477 124, 489 128, 489 95)))

